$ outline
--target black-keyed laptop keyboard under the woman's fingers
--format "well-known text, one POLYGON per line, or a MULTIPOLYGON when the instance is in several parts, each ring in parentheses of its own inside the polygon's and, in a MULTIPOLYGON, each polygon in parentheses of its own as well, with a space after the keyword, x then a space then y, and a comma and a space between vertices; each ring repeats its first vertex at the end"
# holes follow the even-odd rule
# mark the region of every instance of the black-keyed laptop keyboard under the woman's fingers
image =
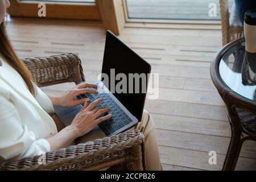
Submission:
MULTIPOLYGON (((97 90, 94 88, 90 88, 90 89, 97 90)), ((111 109, 108 113, 104 115, 112 114, 112 118, 109 118, 108 120, 98 124, 100 129, 107 136, 132 122, 131 118, 125 113, 125 111, 121 109, 121 107, 119 107, 115 103, 115 101, 109 96, 108 93, 99 93, 99 94, 85 93, 85 94, 81 94, 80 96, 77 96, 78 100, 82 98, 89 98, 90 100, 89 104, 94 100, 97 100, 98 98, 103 98, 104 101, 102 101, 96 107, 104 106, 104 107, 109 107, 111 109)), ((104 115, 100 115, 100 117, 103 117, 104 115)))

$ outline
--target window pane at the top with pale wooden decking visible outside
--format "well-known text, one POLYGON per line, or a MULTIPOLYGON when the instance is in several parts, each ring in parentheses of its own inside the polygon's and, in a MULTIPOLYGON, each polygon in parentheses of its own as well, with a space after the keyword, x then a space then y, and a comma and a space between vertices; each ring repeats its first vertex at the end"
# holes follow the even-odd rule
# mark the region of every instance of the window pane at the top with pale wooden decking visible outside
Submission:
POLYGON ((219 0, 126 0, 126 7, 129 19, 220 20, 219 0), (216 16, 209 16, 210 3, 216 16))

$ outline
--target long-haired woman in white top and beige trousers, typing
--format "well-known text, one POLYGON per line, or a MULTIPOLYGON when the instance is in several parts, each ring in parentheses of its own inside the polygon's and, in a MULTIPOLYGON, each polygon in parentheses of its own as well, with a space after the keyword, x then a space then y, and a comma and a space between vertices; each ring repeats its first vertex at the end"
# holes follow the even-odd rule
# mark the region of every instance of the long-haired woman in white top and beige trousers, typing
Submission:
MULTIPOLYGON (((82 93, 97 94, 89 87, 97 85, 81 83, 59 97, 47 96, 35 82, 26 66, 16 56, 6 35, 5 16, 9 0, 0 0, 0 156, 2 159, 20 159, 38 155, 40 152, 58 150, 69 146, 73 140, 89 133, 98 123, 112 117, 109 108, 98 107, 98 99, 88 104, 87 98, 76 100, 82 93), (57 132, 49 114, 54 113, 53 105, 72 107, 84 104, 71 125, 57 132)), ((134 128, 144 134, 146 168, 162 169, 154 123, 144 111, 142 121, 134 128)))

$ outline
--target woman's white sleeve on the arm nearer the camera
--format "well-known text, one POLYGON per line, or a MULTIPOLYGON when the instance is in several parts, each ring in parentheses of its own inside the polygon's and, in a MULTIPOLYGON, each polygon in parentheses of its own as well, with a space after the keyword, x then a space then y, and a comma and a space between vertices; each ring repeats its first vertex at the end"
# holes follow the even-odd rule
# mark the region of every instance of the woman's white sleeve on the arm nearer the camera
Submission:
POLYGON ((19 117, 13 102, 0 93, 0 156, 3 159, 39 155, 50 150, 46 139, 36 140, 19 117))

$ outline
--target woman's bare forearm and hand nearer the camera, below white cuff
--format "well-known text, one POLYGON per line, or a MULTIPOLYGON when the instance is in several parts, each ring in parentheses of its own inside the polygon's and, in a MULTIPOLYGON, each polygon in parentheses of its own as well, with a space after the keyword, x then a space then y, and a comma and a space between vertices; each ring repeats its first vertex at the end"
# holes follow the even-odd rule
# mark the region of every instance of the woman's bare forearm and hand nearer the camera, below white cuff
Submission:
POLYGON ((98 118, 101 114, 110 111, 106 107, 97 107, 96 105, 102 102, 102 98, 93 101, 90 105, 85 101, 84 107, 77 113, 73 119, 71 125, 65 127, 59 133, 47 138, 51 146, 51 150, 58 150, 60 148, 67 147, 73 140, 86 133, 89 133, 98 123, 105 121, 112 117, 111 114, 105 115, 104 117, 98 118))

